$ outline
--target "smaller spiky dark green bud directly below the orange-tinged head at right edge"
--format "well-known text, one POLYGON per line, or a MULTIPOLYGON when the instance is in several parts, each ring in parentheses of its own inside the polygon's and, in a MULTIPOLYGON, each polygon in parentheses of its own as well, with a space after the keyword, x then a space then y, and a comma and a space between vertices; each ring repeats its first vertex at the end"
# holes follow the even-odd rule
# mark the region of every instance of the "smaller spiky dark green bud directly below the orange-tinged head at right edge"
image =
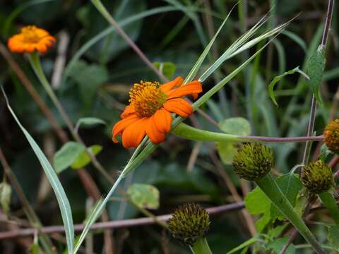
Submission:
POLYGON ((312 162, 302 170, 302 183, 311 193, 328 191, 334 184, 332 169, 322 160, 312 162))

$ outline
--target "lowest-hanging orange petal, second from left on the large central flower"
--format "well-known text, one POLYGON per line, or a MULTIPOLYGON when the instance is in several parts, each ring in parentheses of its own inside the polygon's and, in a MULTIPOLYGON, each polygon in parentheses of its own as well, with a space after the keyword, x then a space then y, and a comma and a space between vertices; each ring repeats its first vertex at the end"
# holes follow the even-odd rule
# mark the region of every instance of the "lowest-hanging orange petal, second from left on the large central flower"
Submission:
POLYGON ((125 148, 137 147, 141 143, 145 137, 145 122, 147 120, 145 117, 138 119, 124 130, 121 138, 125 148))

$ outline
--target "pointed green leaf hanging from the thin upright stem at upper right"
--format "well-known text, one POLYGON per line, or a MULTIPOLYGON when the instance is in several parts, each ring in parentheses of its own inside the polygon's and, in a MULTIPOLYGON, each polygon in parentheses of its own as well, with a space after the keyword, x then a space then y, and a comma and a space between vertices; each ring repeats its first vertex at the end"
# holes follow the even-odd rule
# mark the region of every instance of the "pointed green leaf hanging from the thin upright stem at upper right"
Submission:
POLYGON ((309 84, 313 90, 316 100, 322 104, 320 95, 320 85, 325 70, 326 58, 323 55, 322 47, 319 46, 316 52, 311 55, 307 61, 307 74, 309 75, 309 84))

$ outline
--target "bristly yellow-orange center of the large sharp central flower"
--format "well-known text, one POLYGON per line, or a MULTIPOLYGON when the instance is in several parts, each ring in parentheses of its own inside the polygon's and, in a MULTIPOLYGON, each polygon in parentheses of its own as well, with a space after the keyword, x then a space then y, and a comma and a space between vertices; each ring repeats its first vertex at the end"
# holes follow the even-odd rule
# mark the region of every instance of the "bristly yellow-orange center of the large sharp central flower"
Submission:
POLYGON ((140 84, 134 84, 129 97, 130 104, 140 118, 152 116, 166 102, 166 95, 157 82, 141 81, 140 84))

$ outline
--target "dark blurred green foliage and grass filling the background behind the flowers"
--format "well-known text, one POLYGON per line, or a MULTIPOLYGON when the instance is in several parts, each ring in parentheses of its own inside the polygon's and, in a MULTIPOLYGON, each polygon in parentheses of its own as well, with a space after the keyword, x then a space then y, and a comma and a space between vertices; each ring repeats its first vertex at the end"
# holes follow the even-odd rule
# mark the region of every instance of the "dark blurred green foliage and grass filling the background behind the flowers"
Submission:
MULTIPOLYGON (((173 78, 188 73, 211 35, 237 1, 102 2, 155 66, 161 67, 167 78, 173 78)), ((157 76, 145 66, 117 32, 109 30, 109 24, 90 1, 2 0, 0 7, 2 44, 6 44, 8 37, 18 32, 24 25, 37 25, 57 37, 56 46, 42 56, 44 71, 49 80, 54 80, 52 85, 55 92, 74 124, 83 117, 95 117, 107 123, 81 126, 79 134, 88 147, 92 145, 102 147, 97 159, 110 176, 116 176, 126 164, 131 151, 124 149, 121 144, 112 143, 112 126, 119 120, 121 110, 128 103, 131 85, 139 80, 158 80, 157 76), (102 34, 103 31, 105 34, 102 34), (84 48, 93 38, 97 43, 84 48), (60 72, 56 68, 57 61, 61 61, 61 66, 65 67, 64 71, 60 72)), ((296 16, 297 18, 268 49, 256 57, 249 68, 215 95, 213 100, 202 108, 203 111, 218 123, 241 116, 249 121, 251 131, 247 134, 251 135, 275 137, 306 135, 311 90, 304 79, 297 74, 290 75, 276 85, 275 95, 279 107, 275 107, 271 102, 267 86, 275 75, 297 66, 304 69, 309 52, 314 52, 319 45, 326 8, 327 1, 323 0, 240 2, 220 32, 208 61, 204 63, 205 66, 210 66, 210 62, 220 56, 234 40, 268 11, 270 19, 262 30, 273 28, 275 24, 284 23, 296 16)), ((338 116, 336 112, 339 95, 338 8, 335 8, 332 28, 328 42, 326 73, 321 87, 324 104, 318 107, 316 115, 315 130, 319 135, 328 120, 338 116)), ((220 71, 203 84, 204 90, 208 90, 220 78, 234 70, 255 50, 256 48, 244 52, 223 64, 220 71)), ((4 53, 1 54, 4 56, 4 53)), ((22 80, 2 56, 0 85, 4 85, 20 121, 52 161, 55 152, 63 143, 22 85, 22 80)), ((13 58, 18 63, 17 68, 27 75, 29 82, 69 135, 64 121, 32 72, 27 59, 19 54, 13 54, 13 58)), ((2 95, 0 116, 0 147, 23 192, 44 226, 61 224, 57 200, 30 146, 9 114, 2 95)), ((195 114, 186 122, 200 128, 220 131, 199 114, 195 114)), ((277 174, 284 174, 301 162, 302 144, 285 143, 273 147, 277 174)), ((235 148, 234 145, 194 143, 169 135, 167 141, 157 148, 152 157, 124 179, 121 190, 126 191, 131 183, 155 186, 160 191, 160 204, 157 209, 150 212, 156 215, 171 213, 177 205, 186 202, 198 202, 204 207, 242 202, 243 197, 254 186, 240 182, 234 176, 230 165, 232 157, 231 160, 230 157, 220 158, 218 149, 232 154, 235 148), (230 192, 230 186, 231 188, 235 186, 238 199, 234 192, 230 192)), ((314 149, 314 152, 317 150, 314 149)), ((85 169, 95 181, 100 193, 107 193, 111 183, 90 164, 85 169)), ((59 174, 59 177, 71 202, 74 221, 81 223, 85 219, 89 195, 76 170, 67 168, 59 174)), ((11 196, 10 211, 7 217, 1 217, 4 221, 1 222, 1 231, 11 230, 8 220, 16 222, 19 226, 27 224, 15 191, 11 196)), ((118 194, 107 206, 107 212, 110 220, 144 216, 140 209, 118 194)), ((251 237, 249 224, 244 220, 241 210, 215 214, 211 221, 207 238, 214 253, 226 253, 227 250, 251 237)), ((319 226, 316 230, 322 239, 327 237, 326 229, 323 227, 319 226)), ((266 234, 268 231, 263 232, 266 234)), ((55 245, 61 253, 63 247, 58 243, 64 240, 60 236, 56 238, 59 240, 55 240, 55 245)), ((93 251, 102 253, 104 251, 102 231, 95 231, 93 238, 93 251)), ((158 225, 115 229, 112 238, 117 253, 188 253, 184 246, 174 241, 172 236, 158 225)), ((277 243, 273 237, 267 239, 266 243, 263 243, 267 247, 267 253, 269 251, 275 253, 281 248, 281 241, 277 243)), ((302 239, 297 239, 296 243, 298 241, 302 239)), ((18 238, 2 240, 1 253, 24 253, 31 243, 32 237, 28 238, 28 241, 19 241, 18 238)), ((297 253, 311 253, 307 251, 297 249, 297 253)))

